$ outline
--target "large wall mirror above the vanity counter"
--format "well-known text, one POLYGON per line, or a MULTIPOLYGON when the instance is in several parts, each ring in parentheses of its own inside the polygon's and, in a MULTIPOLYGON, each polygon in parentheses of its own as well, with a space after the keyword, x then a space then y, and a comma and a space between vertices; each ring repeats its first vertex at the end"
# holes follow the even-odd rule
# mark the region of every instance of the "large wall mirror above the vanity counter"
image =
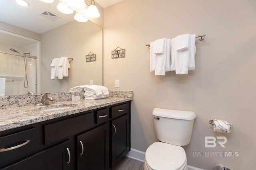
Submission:
MULTIPOLYGON (((25 69, 24 62, 26 61, 24 61, 24 57, 21 56, 19 58, 14 55, 15 52, 10 51, 10 48, 16 49, 22 54, 29 51, 30 55, 39 57, 40 66, 37 74, 40 80, 39 93, 68 92, 69 89, 74 86, 90 84, 90 82, 102 85, 102 28, 90 20, 86 23, 75 21, 73 19, 74 14, 61 14, 56 10, 56 5, 58 4, 57 0, 52 4, 46 4, 39 0, 30 1, 30 6, 28 7, 30 10, 34 11, 34 15, 37 16, 26 14, 25 12, 28 8, 18 6, 15 0, 0 1, 0 21, 22 27, 23 29, 36 32, 40 35, 40 46, 38 49, 38 46, 34 45, 35 43, 29 44, 29 40, 22 41, 21 38, 8 39, 10 35, 6 37, 5 34, 0 33, 0 51, 9 53, 7 55, 4 54, 2 60, 0 53, 0 77, 2 75, 7 78, 9 76, 10 78, 13 76, 11 74, 15 71, 19 73, 17 77, 20 77, 14 80, 14 82, 6 82, 6 87, 11 86, 13 90, 7 89, 5 95, 27 94, 27 91, 35 92, 36 89, 32 86, 24 88, 25 74, 23 74, 23 72, 25 69), (51 21, 38 15, 44 10, 56 14, 59 18, 55 21, 51 21), (35 17, 39 18, 35 21, 35 17), (28 23, 29 18, 33 21, 28 23), (64 18, 68 18, 68 20, 64 20, 64 18), (40 51, 40 54, 37 54, 37 51, 40 51), (96 61, 86 62, 86 55, 91 52, 96 54, 96 61), (51 79, 52 67, 50 64, 54 58, 61 57, 73 58, 73 60, 70 61, 68 76, 63 77, 63 79, 56 77, 53 80, 51 79), (18 68, 22 71, 17 70, 18 68), (10 70, 9 73, 6 70, 10 70)), ((35 62, 34 59, 28 58, 28 70, 36 69, 33 67, 36 64, 34 63, 33 65, 32 62, 35 62)), ((28 73, 28 84, 36 84, 36 80, 32 77, 33 75, 36 74, 33 72, 28 73)), ((12 80, 12 78, 10 78, 10 80, 12 80)))

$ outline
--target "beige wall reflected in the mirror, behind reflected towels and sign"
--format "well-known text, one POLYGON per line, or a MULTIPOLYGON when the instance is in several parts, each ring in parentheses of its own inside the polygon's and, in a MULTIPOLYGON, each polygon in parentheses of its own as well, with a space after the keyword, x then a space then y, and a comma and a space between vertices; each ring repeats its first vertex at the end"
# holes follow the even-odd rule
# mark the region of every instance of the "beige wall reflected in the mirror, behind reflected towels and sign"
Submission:
POLYGON ((41 93, 68 92, 70 88, 90 84, 102 85, 102 28, 88 21, 72 21, 41 34, 41 93), (86 63, 86 55, 96 53, 96 61, 86 63), (68 77, 51 80, 51 61, 70 57, 68 77))

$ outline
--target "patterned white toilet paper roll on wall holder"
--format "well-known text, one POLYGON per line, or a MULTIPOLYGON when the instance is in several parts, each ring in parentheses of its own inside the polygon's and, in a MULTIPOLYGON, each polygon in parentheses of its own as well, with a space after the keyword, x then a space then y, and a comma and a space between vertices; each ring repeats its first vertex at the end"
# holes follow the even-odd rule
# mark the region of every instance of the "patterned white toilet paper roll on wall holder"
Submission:
POLYGON ((234 126, 232 123, 218 119, 214 119, 213 123, 213 131, 219 133, 230 133, 231 127, 234 126))

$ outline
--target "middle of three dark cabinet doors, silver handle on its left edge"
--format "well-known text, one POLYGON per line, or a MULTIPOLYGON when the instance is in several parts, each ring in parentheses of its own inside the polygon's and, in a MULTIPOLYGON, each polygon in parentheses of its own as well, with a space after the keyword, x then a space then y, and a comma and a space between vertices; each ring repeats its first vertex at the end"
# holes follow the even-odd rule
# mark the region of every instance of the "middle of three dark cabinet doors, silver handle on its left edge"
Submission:
POLYGON ((78 170, 109 169, 109 123, 77 136, 78 170))

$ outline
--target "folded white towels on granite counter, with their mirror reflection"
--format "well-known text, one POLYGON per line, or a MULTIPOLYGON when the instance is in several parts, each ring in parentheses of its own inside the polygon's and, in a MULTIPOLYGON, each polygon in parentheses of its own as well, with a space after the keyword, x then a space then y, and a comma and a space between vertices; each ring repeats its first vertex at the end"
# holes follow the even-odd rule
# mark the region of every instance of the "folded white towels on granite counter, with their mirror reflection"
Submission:
POLYGON ((108 88, 99 85, 82 85, 70 88, 69 92, 82 92, 84 91, 85 99, 103 99, 109 97, 108 88))

